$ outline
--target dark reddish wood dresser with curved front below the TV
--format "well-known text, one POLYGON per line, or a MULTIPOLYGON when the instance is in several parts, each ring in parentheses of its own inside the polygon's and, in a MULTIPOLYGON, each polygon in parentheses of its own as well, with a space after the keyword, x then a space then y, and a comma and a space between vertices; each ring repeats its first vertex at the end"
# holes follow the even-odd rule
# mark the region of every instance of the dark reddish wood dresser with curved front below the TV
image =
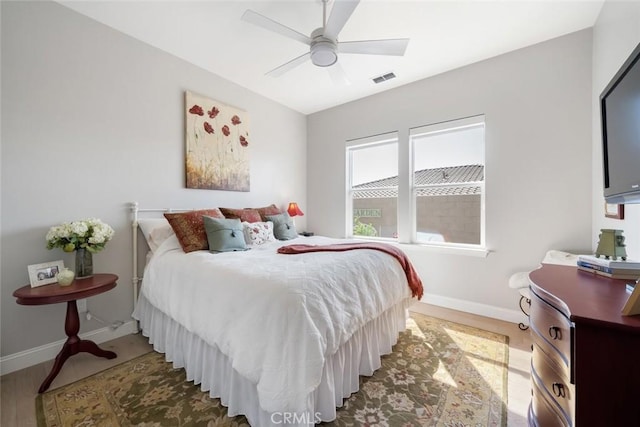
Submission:
POLYGON ((629 280, 544 264, 531 279, 529 425, 640 425, 640 316, 629 280))

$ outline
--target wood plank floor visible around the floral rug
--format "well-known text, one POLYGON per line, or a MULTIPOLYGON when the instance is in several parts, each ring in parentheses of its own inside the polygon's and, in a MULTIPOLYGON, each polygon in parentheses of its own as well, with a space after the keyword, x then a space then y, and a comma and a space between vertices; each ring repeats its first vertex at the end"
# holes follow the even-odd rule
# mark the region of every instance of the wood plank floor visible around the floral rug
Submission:
MULTIPOLYGON (((441 307, 429 306, 428 314, 509 336, 509 414, 507 422, 509 427, 525 426, 527 407, 531 399, 529 385, 531 340, 529 332, 519 330, 518 326, 513 323, 441 307)), ((147 340, 140 334, 127 335, 102 343, 100 347, 115 351, 118 357, 108 360, 87 353, 77 354, 67 360, 50 389, 77 381, 151 350, 147 340)), ((52 366, 53 360, 50 360, 0 377, 0 425, 3 427, 36 425, 35 398, 40 384, 52 366)))

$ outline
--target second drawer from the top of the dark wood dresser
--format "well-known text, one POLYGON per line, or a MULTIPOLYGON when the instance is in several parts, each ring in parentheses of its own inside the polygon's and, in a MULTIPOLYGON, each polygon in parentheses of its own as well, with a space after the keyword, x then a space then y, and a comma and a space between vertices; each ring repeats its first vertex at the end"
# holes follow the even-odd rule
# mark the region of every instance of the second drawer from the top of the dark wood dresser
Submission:
POLYGON ((531 379, 536 383, 545 399, 556 407, 569 424, 575 417, 575 387, 569 377, 557 369, 557 365, 549 359, 540 347, 534 344, 531 354, 531 379))

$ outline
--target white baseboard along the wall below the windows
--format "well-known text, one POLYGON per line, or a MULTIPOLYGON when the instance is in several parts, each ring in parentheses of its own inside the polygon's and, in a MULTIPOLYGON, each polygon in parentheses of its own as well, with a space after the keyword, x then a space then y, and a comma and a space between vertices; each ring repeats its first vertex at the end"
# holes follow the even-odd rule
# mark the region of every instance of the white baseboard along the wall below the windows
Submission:
MULTIPOLYGON (((517 303, 517 300, 513 302, 516 307, 517 303)), ((429 305, 437 305, 438 307, 464 311, 466 313, 477 314, 479 316, 490 317, 492 319, 503 320, 510 323, 526 323, 526 316, 519 309, 509 310, 502 307, 495 307, 493 305, 480 304, 473 301, 443 297, 441 295, 432 294, 425 294, 422 297, 422 301, 418 301, 413 304, 411 307, 409 307, 409 310, 421 314, 426 314, 428 316, 430 314, 429 305)))

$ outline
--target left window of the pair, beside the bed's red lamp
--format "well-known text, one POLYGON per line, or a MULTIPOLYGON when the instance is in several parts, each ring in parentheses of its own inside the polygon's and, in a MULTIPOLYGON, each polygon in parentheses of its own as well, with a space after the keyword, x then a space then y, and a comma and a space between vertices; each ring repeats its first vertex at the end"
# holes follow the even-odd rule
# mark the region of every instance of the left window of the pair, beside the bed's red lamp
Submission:
POLYGON ((349 141, 347 235, 395 238, 398 233, 398 138, 395 133, 349 141))

